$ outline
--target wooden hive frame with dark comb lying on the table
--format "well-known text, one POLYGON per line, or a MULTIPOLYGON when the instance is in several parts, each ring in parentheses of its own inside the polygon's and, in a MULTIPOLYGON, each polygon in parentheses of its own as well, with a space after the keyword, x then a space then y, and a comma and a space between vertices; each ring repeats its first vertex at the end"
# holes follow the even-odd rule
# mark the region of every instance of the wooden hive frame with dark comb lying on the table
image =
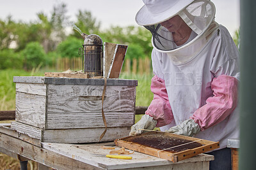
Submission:
POLYGON ((178 162, 220 147, 219 142, 168 132, 148 132, 115 140, 116 146, 178 162))

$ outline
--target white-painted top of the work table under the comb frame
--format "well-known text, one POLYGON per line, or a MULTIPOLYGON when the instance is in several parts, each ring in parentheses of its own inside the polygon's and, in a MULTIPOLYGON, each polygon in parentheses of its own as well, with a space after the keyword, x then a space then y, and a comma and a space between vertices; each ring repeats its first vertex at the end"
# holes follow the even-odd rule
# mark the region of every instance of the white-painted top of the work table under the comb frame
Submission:
MULTIPOLYGON (((60 144, 60 143, 42 143, 42 147, 51 150, 52 152, 60 153, 66 157, 73 157, 74 159, 80 160, 81 162, 88 162, 94 166, 100 166, 104 169, 172 169, 173 170, 190 170, 192 167, 198 169, 207 169, 207 166, 202 164, 208 163, 209 160, 214 160, 212 155, 200 154, 196 157, 182 160, 178 163, 173 163, 168 160, 159 159, 150 155, 141 154, 139 152, 132 153, 132 160, 124 159, 109 159, 107 157, 97 157, 92 154, 109 154, 109 150, 104 150, 101 146, 106 146, 104 143, 90 143, 82 145, 74 144, 60 144), (98 146, 96 146, 98 145, 98 146), (195 166, 197 164, 197 166, 195 166), (185 166, 186 165, 186 166, 185 166)), ((115 150, 120 150, 119 147, 115 147, 115 150)), ((132 150, 129 150, 132 152, 132 150)), ((193 168, 192 168, 193 169, 193 168)))

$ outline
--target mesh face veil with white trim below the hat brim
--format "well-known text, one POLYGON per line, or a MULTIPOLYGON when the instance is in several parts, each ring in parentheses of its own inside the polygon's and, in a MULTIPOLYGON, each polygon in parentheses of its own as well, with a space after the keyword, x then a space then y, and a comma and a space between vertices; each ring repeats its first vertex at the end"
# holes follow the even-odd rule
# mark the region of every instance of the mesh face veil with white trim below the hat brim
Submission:
POLYGON ((204 47, 212 33, 218 29, 218 24, 214 22, 214 4, 208 0, 193 1, 176 15, 179 15, 179 18, 182 18, 191 30, 190 34, 184 34, 178 40, 187 40, 182 45, 179 45, 177 40, 173 40, 175 31, 171 32, 169 28, 164 27, 166 25, 162 26, 163 22, 170 20, 175 15, 158 24, 144 25, 144 27, 152 33, 152 45, 157 51, 168 53, 173 62, 182 64, 204 47))

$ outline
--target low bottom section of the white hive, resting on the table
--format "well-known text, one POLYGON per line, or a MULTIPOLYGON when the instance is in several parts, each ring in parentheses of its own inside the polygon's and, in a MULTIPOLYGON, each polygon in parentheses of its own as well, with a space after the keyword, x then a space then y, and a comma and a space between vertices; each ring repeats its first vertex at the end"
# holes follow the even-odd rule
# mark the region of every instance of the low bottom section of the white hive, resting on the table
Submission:
MULTIPOLYGON (((54 129, 45 130, 20 122, 12 122, 12 129, 31 138, 48 143, 91 143, 99 141, 100 134, 105 128, 88 129, 54 129)), ((109 127, 101 141, 114 141, 129 135, 130 127, 109 127)))

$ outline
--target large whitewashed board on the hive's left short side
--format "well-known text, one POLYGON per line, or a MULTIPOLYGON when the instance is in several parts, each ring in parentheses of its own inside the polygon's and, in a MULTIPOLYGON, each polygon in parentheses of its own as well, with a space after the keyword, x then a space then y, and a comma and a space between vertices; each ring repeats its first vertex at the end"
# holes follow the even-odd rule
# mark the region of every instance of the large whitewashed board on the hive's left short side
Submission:
POLYGON ((16 92, 15 120, 44 128, 45 102, 46 96, 16 92))

